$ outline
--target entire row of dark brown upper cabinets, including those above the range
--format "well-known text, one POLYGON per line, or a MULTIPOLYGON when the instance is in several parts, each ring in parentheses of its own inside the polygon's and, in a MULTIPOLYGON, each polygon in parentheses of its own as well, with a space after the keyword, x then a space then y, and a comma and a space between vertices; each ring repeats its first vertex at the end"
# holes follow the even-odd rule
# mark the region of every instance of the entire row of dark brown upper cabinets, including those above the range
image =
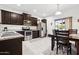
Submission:
POLYGON ((1 10, 2 24, 12 24, 12 25, 24 25, 24 20, 30 21, 31 26, 37 26, 37 18, 31 17, 30 14, 14 13, 5 10, 1 10))

